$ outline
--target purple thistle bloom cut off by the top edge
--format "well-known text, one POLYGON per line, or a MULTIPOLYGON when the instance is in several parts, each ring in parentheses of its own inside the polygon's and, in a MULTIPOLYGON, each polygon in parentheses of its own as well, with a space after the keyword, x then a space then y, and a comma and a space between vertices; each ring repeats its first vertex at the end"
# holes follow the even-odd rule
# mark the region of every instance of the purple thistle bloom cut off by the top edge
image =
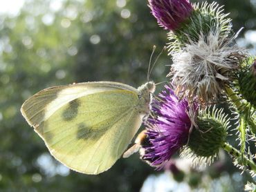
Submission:
POLYGON ((167 30, 176 30, 185 21, 192 10, 188 0, 148 0, 149 8, 160 26, 167 30))

